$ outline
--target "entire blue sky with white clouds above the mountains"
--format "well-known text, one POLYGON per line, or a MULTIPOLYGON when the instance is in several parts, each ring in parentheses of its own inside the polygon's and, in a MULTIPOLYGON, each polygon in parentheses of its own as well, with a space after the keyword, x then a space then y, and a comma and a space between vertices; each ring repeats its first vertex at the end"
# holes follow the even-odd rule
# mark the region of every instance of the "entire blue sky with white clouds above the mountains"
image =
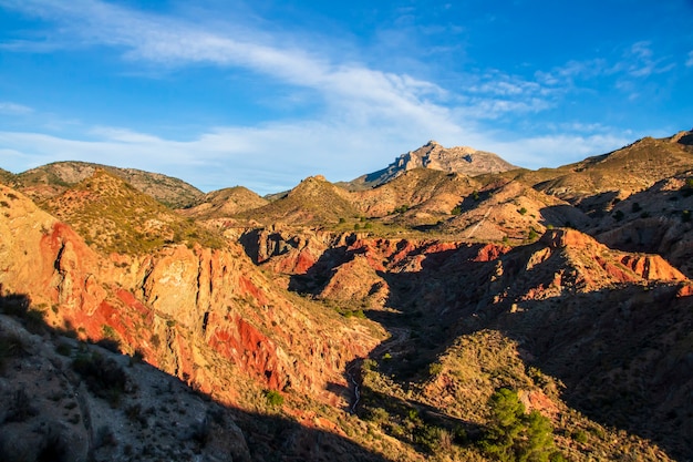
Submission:
POLYGON ((693 0, 0 0, 0 167, 267 194, 436 140, 528 168, 693 127, 693 0))

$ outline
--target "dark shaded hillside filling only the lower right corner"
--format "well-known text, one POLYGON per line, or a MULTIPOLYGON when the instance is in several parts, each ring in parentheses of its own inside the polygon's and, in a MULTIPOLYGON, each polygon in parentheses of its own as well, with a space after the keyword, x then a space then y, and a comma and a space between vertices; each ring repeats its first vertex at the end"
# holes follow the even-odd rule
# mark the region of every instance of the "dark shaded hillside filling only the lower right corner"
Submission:
POLYGON ((493 326, 590 419, 693 458, 693 312, 670 285, 623 285, 501 311, 493 326), (510 312, 515 310, 515 312, 510 312))

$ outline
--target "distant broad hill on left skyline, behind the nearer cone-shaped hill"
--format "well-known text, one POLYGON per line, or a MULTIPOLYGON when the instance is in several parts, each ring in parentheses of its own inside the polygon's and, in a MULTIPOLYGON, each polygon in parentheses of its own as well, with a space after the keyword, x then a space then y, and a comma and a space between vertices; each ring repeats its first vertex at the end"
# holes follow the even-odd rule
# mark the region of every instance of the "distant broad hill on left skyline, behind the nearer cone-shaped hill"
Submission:
POLYGON ((203 192, 195 186, 161 173, 87 162, 55 162, 32 168, 15 175, 11 186, 28 194, 34 201, 42 201, 61 194, 68 186, 92 176, 97 168, 123 178, 135 189, 169 207, 188 207, 203 196, 203 192))

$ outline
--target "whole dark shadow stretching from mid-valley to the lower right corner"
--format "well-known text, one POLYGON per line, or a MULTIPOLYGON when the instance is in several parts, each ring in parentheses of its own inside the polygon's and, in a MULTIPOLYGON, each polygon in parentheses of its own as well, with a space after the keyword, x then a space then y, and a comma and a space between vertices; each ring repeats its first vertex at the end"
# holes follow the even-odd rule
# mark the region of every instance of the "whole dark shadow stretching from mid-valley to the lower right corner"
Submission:
POLYGON ((676 284, 622 284, 541 298, 540 281, 554 274, 528 270, 527 247, 504 256, 507 284, 497 260, 465 260, 462 250, 424 260, 418 273, 384 274, 399 312, 366 312, 393 336, 371 358, 401 384, 425 380, 456 338, 495 329, 518 343, 527 371, 565 386, 571 408, 692 460, 691 297, 676 284), (397 345, 403 331, 411 340, 397 345))

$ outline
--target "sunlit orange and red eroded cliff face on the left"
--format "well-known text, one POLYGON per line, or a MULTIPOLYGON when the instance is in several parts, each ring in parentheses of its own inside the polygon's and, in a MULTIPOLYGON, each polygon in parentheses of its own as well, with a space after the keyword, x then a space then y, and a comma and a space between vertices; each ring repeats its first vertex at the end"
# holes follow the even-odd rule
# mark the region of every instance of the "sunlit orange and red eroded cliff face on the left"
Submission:
POLYGON ((6 294, 27 294, 55 327, 141 351, 225 402, 244 398, 240 377, 339 402, 327 382, 346 386, 344 366, 376 342, 272 287, 238 247, 105 259, 20 193, 3 187, 2 197, 6 294))

